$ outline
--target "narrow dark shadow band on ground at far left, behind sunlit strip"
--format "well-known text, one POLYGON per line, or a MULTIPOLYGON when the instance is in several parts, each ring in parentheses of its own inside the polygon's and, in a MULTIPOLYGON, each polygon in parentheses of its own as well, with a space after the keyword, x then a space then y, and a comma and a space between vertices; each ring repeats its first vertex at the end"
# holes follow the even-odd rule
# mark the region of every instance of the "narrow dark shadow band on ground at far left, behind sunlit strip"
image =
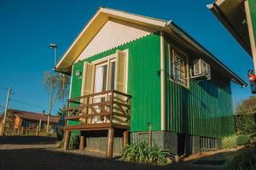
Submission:
POLYGON ((55 144, 54 137, 44 136, 1 136, 0 144, 55 144))

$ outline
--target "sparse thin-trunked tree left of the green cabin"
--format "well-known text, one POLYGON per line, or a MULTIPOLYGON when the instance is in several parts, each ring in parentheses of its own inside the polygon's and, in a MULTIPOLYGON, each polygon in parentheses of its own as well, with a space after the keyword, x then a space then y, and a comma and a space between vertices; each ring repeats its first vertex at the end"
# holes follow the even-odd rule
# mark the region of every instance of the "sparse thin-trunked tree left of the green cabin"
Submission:
MULTIPOLYGON (((69 77, 59 73, 44 72, 43 86, 49 94, 49 109, 48 114, 51 115, 53 106, 57 100, 65 98, 68 94, 69 77)), ((49 116, 47 121, 47 133, 49 133, 49 116)))

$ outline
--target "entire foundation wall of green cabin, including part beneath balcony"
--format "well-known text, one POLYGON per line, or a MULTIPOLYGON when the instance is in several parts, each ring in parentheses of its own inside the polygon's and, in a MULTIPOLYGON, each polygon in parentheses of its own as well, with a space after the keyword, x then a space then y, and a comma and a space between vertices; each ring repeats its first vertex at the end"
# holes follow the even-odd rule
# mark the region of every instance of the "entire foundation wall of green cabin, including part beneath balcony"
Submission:
MULTIPOLYGON (((82 134, 85 136, 86 149, 106 152, 108 135, 107 131, 82 134)), ((123 150, 122 135, 122 132, 115 132, 113 140, 114 155, 119 155, 120 151, 123 150)), ((149 143, 148 137, 148 132, 132 132, 130 133, 130 143, 149 143)), ((201 151, 220 149, 221 139, 193 136, 182 133, 153 131, 152 144, 157 145, 161 150, 169 150, 172 153, 172 155, 182 156, 196 154, 201 151)))

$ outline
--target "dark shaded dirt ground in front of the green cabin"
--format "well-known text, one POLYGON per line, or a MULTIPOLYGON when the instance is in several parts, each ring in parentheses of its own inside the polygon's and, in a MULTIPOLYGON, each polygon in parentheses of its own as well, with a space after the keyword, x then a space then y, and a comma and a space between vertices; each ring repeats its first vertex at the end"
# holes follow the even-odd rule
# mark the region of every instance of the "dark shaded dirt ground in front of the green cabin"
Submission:
POLYGON ((0 170, 97 170, 97 169, 172 169, 213 170, 214 166, 196 166, 191 161, 152 166, 108 160, 86 151, 63 151, 49 137, 0 137, 0 170))

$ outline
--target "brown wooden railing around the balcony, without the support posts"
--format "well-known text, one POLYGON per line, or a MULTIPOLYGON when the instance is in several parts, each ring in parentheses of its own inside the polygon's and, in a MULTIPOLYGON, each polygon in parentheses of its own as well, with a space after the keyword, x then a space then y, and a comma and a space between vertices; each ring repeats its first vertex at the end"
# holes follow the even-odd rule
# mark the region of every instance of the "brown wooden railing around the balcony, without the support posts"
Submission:
POLYGON ((86 125, 99 127, 100 124, 110 127, 130 127, 131 95, 129 94, 108 90, 68 99, 67 105, 66 120, 79 121, 84 127, 86 125))

